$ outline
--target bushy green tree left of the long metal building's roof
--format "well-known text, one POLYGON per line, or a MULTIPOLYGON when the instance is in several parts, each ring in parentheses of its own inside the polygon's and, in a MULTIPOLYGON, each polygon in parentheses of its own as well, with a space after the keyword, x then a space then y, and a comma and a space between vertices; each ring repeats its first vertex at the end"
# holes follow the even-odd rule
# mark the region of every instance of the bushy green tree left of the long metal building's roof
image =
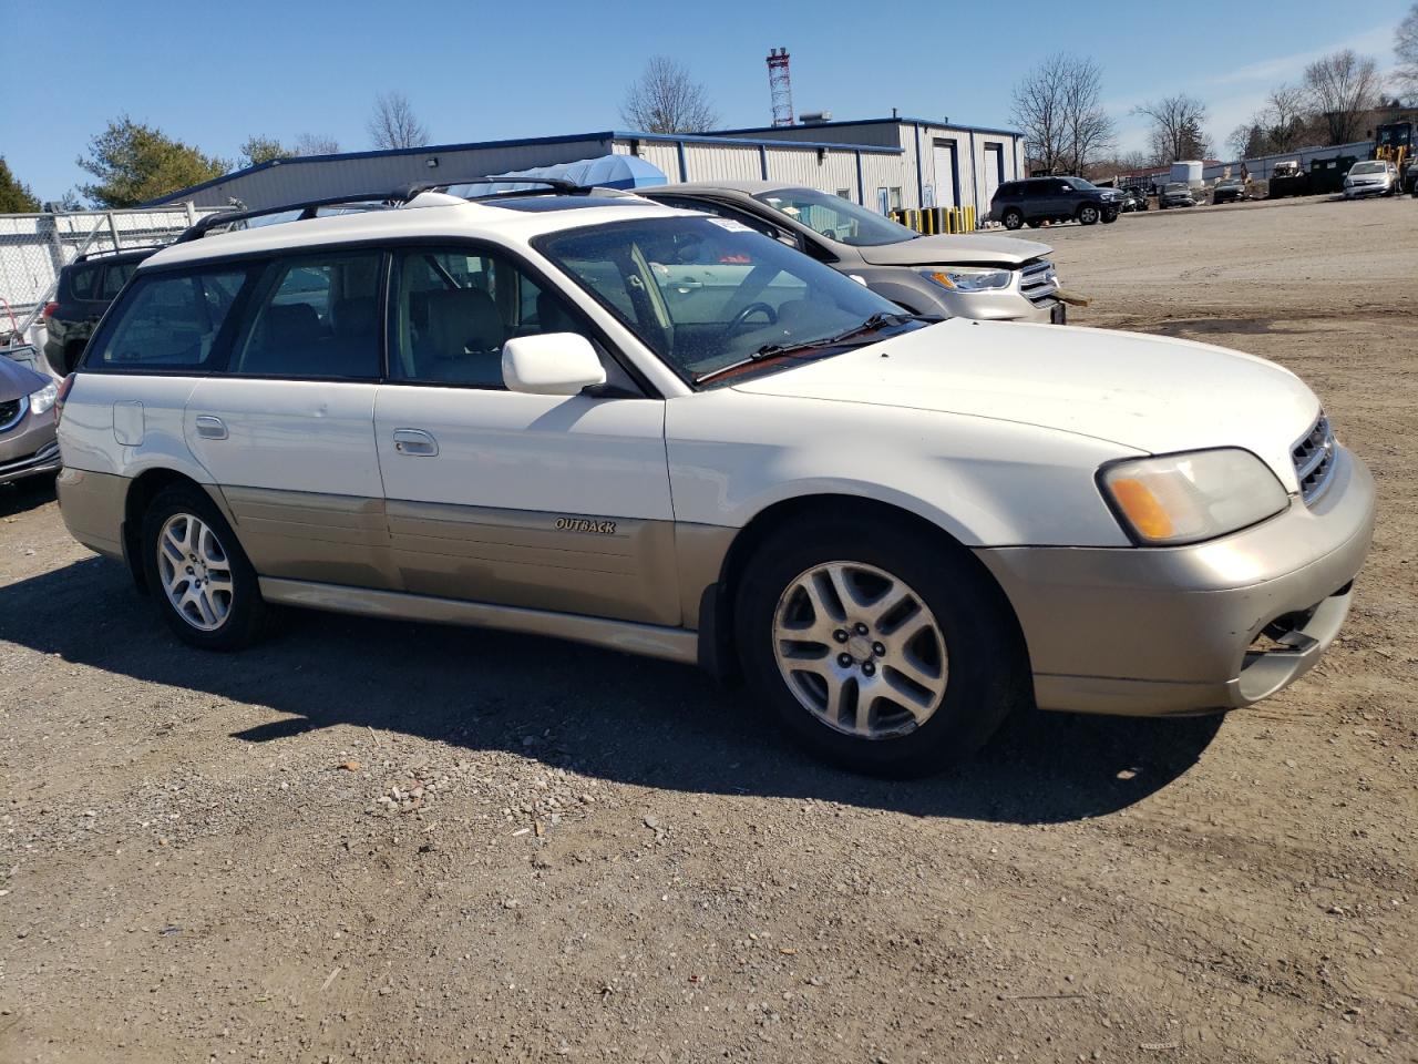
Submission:
POLYGON ((128 115, 89 140, 78 165, 98 179, 79 192, 99 207, 136 207, 231 169, 225 159, 203 155, 128 115))

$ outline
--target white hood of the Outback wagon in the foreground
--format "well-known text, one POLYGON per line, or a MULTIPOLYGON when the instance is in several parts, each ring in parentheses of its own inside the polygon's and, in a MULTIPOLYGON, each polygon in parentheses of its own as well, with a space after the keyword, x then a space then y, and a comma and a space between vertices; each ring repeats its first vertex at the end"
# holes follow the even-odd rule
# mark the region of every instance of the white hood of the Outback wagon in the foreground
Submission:
POLYGON ((1143 333, 964 318, 735 387, 1018 421, 1150 454, 1244 447, 1290 491, 1290 447, 1320 410, 1305 382, 1254 355, 1143 333))

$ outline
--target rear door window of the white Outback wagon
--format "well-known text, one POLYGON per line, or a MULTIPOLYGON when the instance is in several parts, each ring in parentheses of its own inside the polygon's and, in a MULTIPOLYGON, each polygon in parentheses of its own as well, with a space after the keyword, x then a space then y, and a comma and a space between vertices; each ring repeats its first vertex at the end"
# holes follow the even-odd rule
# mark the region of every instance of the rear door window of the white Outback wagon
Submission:
POLYGON ((267 267, 230 372, 268 377, 379 376, 380 253, 326 253, 267 267))

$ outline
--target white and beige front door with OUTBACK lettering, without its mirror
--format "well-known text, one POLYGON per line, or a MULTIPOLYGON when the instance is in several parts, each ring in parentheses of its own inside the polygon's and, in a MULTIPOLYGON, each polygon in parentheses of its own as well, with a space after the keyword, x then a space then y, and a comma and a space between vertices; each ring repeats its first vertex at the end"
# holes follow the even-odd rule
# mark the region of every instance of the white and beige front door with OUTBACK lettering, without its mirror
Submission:
POLYGON ((678 626, 665 404, 603 350, 615 394, 502 386, 515 336, 594 331, 505 251, 394 255, 374 407, 408 592, 678 626))

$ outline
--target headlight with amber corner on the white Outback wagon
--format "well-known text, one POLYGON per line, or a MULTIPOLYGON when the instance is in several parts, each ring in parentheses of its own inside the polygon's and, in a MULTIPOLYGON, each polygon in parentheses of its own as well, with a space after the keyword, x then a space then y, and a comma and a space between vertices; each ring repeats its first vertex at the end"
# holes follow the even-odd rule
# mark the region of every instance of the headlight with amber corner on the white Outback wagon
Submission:
POLYGON ((1144 546, 1214 539, 1279 514, 1289 497, 1249 451, 1224 448, 1105 465, 1099 482, 1144 546))

